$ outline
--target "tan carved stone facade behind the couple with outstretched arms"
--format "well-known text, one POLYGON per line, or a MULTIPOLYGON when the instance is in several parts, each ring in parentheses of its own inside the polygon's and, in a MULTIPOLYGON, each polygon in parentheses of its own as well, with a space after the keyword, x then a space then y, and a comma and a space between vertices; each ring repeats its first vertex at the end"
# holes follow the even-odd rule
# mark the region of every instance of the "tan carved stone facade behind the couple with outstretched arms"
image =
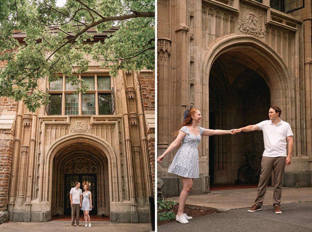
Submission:
MULTIPOLYGON (((234 129, 267 120, 270 106, 278 105, 294 132, 283 185, 311 186, 311 4, 305 1, 291 12, 273 2, 285 3, 158 1, 159 155, 188 108, 201 111, 199 126, 234 129)), ((256 155, 260 163, 263 150, 261 131, 202 137, 200 178, 191 194, 207 193, 213 183, 234 183, 242 154, 256 155)), ((176 152, 158 164, 163 195, 181 190, 178 177, 167 173, 176 152)))

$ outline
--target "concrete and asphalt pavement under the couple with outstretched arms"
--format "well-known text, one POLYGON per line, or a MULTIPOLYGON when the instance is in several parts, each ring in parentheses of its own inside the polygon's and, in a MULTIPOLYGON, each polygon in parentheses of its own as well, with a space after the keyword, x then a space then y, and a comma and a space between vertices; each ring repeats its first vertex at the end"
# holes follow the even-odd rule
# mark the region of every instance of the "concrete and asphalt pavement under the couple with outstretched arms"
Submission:
MULTIPOLYGON (((283 188, 282 214, 274 212, 273 188, 267 189, 261 211, 247 212, 255 200, 256 191, 256 188, 235 189, 188 196, 186 203, 190 206, 212 207, 224 212, 195 217, 188 224, 171 222, 158 226, 157 231, 312 231, 312 187, 283 188)), ((178 201, 178 197, 167 199, 178 201)))

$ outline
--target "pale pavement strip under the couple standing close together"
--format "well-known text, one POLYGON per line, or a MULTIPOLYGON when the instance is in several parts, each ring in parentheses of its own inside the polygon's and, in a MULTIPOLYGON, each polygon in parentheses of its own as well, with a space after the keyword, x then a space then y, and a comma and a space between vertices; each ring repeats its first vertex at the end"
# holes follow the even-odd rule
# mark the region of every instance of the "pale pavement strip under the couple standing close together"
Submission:
POLYGON ((85 227, 84 222, 80 222, 80 227, 70 227, 71 221, 49 221, 49 222, 6 222, 0 225, 0 231, 5 232, 47 232, 47 231, 139 231, 148 232, 152 229, 150 223, 114 223, 105 221, 91 221, 91 227, 85 227))

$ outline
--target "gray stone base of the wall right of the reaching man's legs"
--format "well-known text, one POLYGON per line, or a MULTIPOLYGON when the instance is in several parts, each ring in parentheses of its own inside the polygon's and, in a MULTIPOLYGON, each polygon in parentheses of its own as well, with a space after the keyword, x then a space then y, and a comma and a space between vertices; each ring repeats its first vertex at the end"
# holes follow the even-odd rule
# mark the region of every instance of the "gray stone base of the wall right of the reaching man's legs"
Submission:
POLYGON ((311 187, 311 173, 285 172, 283 187, 311 187))

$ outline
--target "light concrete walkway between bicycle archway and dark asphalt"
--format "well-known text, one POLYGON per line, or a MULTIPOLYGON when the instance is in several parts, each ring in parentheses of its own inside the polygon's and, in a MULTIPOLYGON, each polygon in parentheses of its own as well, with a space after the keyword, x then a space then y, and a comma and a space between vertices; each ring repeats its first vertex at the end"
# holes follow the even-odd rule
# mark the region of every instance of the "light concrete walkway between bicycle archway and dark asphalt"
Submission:
MULTIPOLYGON (((256 194, 256 188, 213 191, 208 194, 188 196, 186 205, 200 206, 202 207, 202 209, 204 209, 205 207, 210 207, 218 209, 220 211, 248 208, 251 207, 252 204, 254 204, 256 194)), ((273 187, 269 187, 266 190, 263 205, 273 205, 272 199, 273 187)), ((179 202, 179 197, 167 197, 166 200, 179 202)), ((312 201, 312 187, 283 187, 281 204, 305 201, 312 201)))

